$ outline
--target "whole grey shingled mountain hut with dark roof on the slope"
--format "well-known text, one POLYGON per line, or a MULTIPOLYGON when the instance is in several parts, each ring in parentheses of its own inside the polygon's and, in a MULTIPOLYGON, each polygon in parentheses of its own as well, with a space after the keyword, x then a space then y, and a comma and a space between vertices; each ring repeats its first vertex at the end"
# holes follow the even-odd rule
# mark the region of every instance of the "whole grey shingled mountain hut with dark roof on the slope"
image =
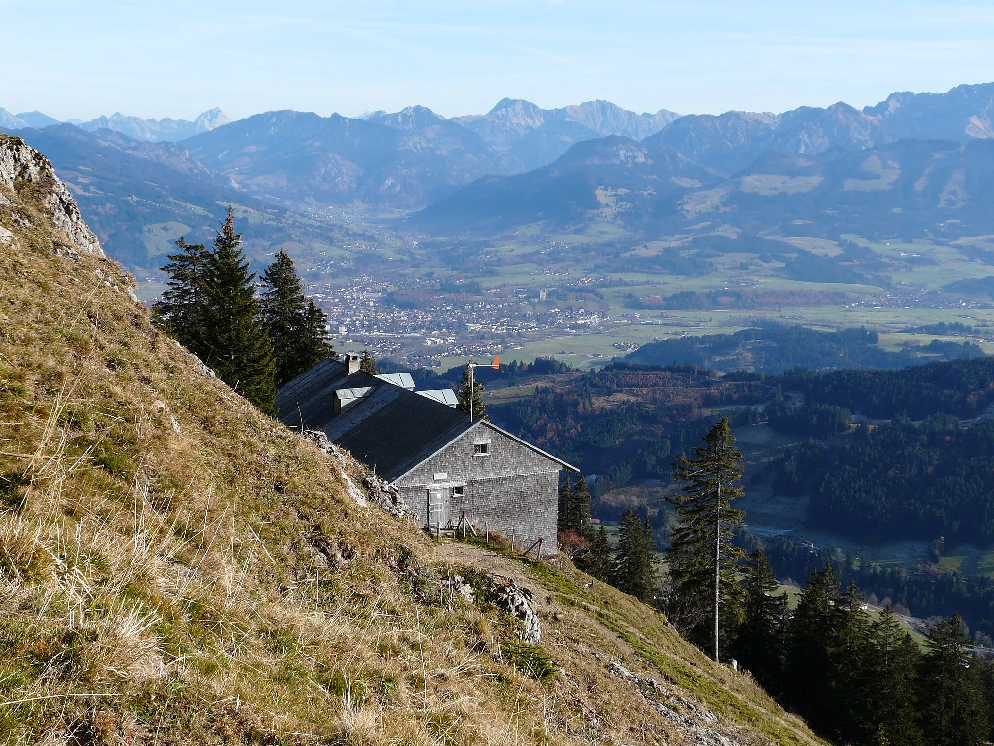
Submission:
POLYGON ((451 389, 414 391, 410 373, 372 375, 358 355, 325 359, 279 389, 277 416, 328 440, 397 487, 425 528, 467 520, 556 553, 566 462, 455 409, 451 389))

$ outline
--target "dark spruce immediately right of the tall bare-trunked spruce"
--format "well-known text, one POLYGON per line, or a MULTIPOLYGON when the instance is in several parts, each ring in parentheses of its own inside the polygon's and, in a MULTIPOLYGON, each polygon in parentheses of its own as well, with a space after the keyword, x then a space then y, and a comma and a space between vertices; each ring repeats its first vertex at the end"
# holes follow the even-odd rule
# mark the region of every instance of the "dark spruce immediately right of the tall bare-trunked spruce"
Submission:
POLYGON ((745 620, 733 654, 771 693, 782 686, 786 593, 775 595, 776 576, 766 555, 758 549, 749 556, 745 571, 745 620))

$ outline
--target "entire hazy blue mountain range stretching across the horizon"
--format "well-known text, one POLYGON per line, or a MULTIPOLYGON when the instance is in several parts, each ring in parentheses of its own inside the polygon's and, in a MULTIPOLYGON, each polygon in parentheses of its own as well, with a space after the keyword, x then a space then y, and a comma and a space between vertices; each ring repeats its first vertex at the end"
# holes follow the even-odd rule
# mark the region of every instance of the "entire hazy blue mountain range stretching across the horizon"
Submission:
POLYGON ((992 116, 994 84, 983 84, 779 114, 505 98, 454 118, 413 106, 233 122, 212 109, 192 122, 114 114, 72 125, 0 109, 0 129, 48 154, 84 214, 99 212, 86 217, 108 253, 145 268, 165 241, 151 242, 149 226, 172 235, 229 200, 277 223, 330 206, 420 210, 408 225, 436 235, 606 221, 654 240, 713 220, 808 236, 990 233, 992 116))

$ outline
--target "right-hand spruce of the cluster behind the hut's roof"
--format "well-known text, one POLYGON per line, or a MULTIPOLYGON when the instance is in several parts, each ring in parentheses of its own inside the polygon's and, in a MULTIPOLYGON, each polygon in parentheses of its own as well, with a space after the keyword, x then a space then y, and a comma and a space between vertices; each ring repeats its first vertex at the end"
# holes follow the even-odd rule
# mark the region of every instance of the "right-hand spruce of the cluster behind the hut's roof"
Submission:
POLYGON ((259 308, 276 357, 276 386, 331 354, 324 311, 304 296, 293 260, 282 249, 262 276, 259 308))

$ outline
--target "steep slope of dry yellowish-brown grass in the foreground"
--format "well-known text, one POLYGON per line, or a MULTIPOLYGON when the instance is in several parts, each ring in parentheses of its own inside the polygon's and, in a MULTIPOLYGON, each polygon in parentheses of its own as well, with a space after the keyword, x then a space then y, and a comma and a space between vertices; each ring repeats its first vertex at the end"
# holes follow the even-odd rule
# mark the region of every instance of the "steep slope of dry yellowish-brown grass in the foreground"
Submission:
POLYGON ((358 504, 336 460, 156 331, 114 263, 65 249, 44 184, 15 186, 0 188, 0 741, 817 742, 568 560, 439 545, 358 504), (521 672, 544 658, 484 600, 487 572, 534 592, 560 666, 546 680, 521 672))

